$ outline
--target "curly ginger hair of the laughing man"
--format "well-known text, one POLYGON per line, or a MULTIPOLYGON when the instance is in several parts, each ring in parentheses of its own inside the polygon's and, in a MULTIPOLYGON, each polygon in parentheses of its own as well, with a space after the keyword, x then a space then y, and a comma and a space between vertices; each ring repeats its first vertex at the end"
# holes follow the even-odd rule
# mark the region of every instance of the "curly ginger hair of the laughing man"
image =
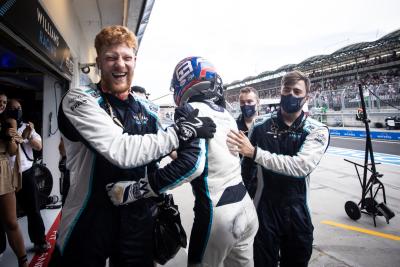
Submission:
POLYGON ((127 27, 121 25, 113 25, 103 28, 94 40, 97 55, 100 55, 101 49, 104 46, 115 44, 126 44, 131 47, 134 52, 137 51, 137 39, 135 34, 127 27))

